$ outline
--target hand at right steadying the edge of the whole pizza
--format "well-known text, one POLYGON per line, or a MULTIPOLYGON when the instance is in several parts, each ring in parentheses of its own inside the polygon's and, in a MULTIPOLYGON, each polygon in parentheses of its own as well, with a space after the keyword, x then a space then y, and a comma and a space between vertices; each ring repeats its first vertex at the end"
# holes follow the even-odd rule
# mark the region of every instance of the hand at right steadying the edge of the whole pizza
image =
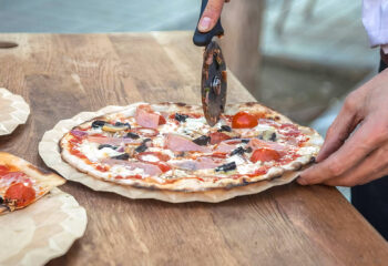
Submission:
POLYGON ((388 70, 346 98, 316 162, 300 185, 355 186, 388 174, 388 70))

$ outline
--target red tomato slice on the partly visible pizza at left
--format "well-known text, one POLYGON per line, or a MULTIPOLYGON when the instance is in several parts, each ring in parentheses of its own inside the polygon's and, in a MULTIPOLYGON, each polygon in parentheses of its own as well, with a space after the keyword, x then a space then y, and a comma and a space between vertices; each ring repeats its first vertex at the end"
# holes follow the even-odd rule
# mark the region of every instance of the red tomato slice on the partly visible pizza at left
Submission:
POLYGON ((17 207, 23 207, 35 200, 35 191, 31 186, 25 186, 23 183, 16 183, 8 187, 4 198, 17 201, 17 207))

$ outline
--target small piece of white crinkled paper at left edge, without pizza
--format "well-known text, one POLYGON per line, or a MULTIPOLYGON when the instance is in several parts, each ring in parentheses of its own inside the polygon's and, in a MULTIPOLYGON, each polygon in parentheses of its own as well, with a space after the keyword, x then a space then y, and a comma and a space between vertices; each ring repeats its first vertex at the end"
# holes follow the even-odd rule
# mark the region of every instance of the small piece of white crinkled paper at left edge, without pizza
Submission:
POLYGON ((30 108, 20 95, 12 94, 0 88, 0 135, 8 135, 24 124, 30 114, 30 108))

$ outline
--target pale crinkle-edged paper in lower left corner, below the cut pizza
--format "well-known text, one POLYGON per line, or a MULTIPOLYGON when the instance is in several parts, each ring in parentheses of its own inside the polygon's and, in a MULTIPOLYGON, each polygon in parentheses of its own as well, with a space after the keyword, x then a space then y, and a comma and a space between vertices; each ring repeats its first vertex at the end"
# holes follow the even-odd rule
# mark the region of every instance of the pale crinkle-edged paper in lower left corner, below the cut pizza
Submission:
POLYGON ((32 205, 0 216, 0 265, 44 265, 65 254, 86 223, 74 197, 53 188, 32 205))

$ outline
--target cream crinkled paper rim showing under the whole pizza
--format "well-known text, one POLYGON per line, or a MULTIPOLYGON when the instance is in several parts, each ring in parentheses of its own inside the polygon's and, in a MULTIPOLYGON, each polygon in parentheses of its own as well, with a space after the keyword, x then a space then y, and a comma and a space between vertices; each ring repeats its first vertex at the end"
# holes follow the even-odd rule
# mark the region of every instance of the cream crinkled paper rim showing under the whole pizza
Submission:
POLYGON ((268 190, 276 185, 283 185, 290 183, 298 176, 298 172, 292 172, 284 174, 279 178, 270 181, 261 181, 251 185, 234 187, 232 190, 216 188, 205 192, 184 193, 184 192, 171 192, 171 191, 153 191, 147 188, 135 188, 132 186, 119 185, 111 182, 94 178, 63 162, 59 151, 59 141, 69 132, 72 127, 89 121, 93 117, 98 117, 111 112, 118 112, 125 110, 130 106, 141 103, 134 103, 127 106, 106 106, 96 112, 82 112, 69 120, 62 120, 51 130, 44 133, 41 142, 39 143, 39 154, 44 163, 59 172, 64 178, 82 183, 94 191, 114 192, 130 198, 155 198, 160 201, 171 203, 182 202, 222 202, 228 198, 233 198, 241 195, 256 194, 262 191, 268 190))

